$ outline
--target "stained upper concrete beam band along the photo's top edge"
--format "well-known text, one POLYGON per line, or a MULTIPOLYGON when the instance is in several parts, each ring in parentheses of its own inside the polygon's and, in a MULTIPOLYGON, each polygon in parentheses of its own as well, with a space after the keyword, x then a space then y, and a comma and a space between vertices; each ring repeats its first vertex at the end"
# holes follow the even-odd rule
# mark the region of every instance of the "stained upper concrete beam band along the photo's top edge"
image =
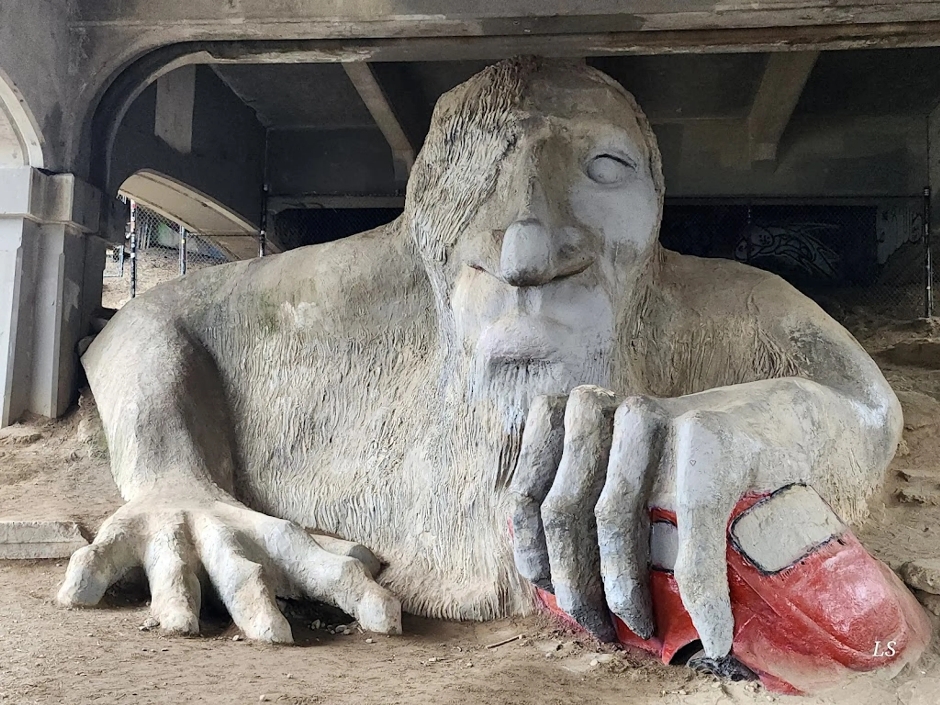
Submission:
POLYGON ((155 31, 183 26, 191 35, 213 36, 221 33, 215 25, 243 28, 245 33, 260 34, 279 23, 278 33, 299 37, 332 34, 342 37, 400 37, 415 35, 467 36, 486 27, 492 34, 537 34, 545 32, 603 32, 625 29, 696 29, 722 24, 729 27, 785 26, 805 24, 917 22, 936 18, 940 8, 929 0, 903 3, 871 0, 833 2, 755 3, 752 0, 728 0, 721 3, 715 17, 713 0, 656 0, 624 3, 622 0, 595 0, 572 3, 549 0, 445 0, 443 2, 405 2, 387 0, 343 0, 341 3, 276 2, 240 0, 220 6, 217 0, 188 0, 185 3, 141 3, 129 14, 122 0, 97 0, 79 3, 74 26, 137 28, 155 31), (198 31, 191 25, 197 24, 198 31), (298 24, 298 27, 293 27, 298 24), (290 26, 285 26, 290 25, 290 26), (423 28, 423 31, 422 31, 423 28), (209 34, 211 32, 211 34, 209 34))

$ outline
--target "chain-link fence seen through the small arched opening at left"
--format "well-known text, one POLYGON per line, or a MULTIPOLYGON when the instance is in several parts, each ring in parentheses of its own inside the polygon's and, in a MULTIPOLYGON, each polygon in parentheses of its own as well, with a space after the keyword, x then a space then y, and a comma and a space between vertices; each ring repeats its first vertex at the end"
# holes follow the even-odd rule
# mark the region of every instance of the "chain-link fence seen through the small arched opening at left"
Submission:
POLYGON ((109 247, 105 258, 103 306, 120 308, 167 279, 229 260, 210 238, 133 201, 127 203, 132 215, 124 243, 109 247))

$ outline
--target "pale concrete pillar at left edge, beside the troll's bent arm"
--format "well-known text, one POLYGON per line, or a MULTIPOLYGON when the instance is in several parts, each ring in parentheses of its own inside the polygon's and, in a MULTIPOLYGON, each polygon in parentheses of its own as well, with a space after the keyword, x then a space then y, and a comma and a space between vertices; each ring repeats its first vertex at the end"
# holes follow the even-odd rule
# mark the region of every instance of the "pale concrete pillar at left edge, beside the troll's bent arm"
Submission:
POLYGON ((0 168, 0 426, 58 416, 75 386, 86 281, 103 268, 102 195, 71 174, 0 168), (100 265, 100 266, 99 266, 100 265))

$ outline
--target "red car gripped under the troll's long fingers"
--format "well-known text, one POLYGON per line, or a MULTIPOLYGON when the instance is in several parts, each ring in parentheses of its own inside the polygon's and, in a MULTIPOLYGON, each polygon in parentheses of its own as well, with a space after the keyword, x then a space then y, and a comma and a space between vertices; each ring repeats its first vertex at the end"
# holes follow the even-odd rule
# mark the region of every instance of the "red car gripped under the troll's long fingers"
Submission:
MULTIPOLYGON (((651 509, 650 520, 655 634, 642 639, 617 617, 614 625, 621 643, 665 664, 685 663, 700 645, 672 573, 676 515, 651 509)), ((806 485, 744 496, 731 513, 728 538, 731 655, 768 690, 800 695, 851 671, 897 672, 930 641, 930 622, 915 597, 806 485)), ((554 595, 539 593, 567 618, 554 595)))

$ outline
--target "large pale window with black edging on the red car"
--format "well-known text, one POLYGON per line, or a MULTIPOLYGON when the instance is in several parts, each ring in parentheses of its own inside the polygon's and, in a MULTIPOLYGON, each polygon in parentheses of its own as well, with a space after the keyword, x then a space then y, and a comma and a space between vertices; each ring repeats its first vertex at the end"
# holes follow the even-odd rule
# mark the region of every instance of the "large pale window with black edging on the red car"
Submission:
POLYGON ((841 536, 846 527, 806 485, 789 485, 744 511, 731 541, 761 572, 780 572, 841 536))

